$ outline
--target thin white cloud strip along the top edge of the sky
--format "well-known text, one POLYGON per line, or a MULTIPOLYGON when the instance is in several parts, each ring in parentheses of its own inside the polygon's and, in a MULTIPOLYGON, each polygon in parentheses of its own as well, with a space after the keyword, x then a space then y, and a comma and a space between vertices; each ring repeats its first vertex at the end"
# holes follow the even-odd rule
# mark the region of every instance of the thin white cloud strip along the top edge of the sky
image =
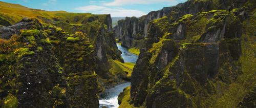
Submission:
POLYGON ((173 4, 177 3, 176 0, 114 0, 113 2, 104 4, 105 6, 122 6, 122 5, 131 5, 131 4, 173 4))

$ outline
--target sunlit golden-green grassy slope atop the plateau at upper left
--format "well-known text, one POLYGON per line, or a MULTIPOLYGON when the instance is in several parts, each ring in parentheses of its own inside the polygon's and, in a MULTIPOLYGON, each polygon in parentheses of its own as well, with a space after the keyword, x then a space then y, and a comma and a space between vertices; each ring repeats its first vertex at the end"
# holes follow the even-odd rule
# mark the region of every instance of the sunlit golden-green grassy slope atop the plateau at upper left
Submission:
MULTIPOLYGON (((82 20, 74 22, 74 17, 90 17, 95 15, 91 13, 68 13, 66 11, 45 11, 39 9, 30 9, 22 5, 10 4, 0 1, 0 17, 7 19, 11 24, 17 23, 17 21, 24 17, 36 18, 37 16, 49 19, 58 18, 62 21, 69 20, 71 23, 80 24, 82 20)), ((103 19, 105 15, 96 16, 99 16, 99 19, 103 19)))

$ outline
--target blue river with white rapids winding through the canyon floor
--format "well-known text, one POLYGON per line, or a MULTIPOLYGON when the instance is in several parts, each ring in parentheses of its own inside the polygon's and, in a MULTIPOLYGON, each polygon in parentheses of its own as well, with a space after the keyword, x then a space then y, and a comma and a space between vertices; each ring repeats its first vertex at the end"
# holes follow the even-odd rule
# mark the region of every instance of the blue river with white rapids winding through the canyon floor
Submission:
MULTIPOLYGON (((127 48, 124 48, 117 44, 118 49, 122 52, 121 57, 124 62, 136 63, 138 56, 129 52, 127 48)), ((119 106, 117 98, 118 95, 123 92, 123 89, 129 87, 130 82, 122 83, 117 85, 115 88, 111 88, 105 91, 104 94, 100 96, 99 107, 106 106, 107 108, 117 108, 119 106)))

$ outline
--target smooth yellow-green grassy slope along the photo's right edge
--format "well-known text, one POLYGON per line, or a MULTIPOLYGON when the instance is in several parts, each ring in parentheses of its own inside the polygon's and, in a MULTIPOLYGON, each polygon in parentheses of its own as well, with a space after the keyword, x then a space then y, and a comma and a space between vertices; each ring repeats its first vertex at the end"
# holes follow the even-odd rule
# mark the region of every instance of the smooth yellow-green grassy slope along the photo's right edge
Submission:
POLYGON ((252 12, 253 15, 243 22, 245 34, 242 35, 242 56, 239 61, 242 64, 243 74, 240 75, 236 82, 228 86, 228 90, 223 92, 222 96, 214 95, 209 98, 209 101, 214 101, 215 104, 211 107, 237 107, 238 103, 243 101, 249 92, 256 86, 256 58, 254 56, 256 46, 253 37, 255 34, 253 28, 256 28, 256 10, 252 12), (214 100, 211 100, 214 99, 214 100))

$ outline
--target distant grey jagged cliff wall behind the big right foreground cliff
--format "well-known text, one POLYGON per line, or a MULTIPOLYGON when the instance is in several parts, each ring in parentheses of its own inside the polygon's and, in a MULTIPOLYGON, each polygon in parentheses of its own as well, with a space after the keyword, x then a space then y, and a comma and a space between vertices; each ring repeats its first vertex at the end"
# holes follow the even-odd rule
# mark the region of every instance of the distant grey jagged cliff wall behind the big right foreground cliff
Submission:
POLYGON ((163 16, 172 16, 173 18, 177 19, 185 14, 195 15, 199 12, 207 12, 216 9, 230 11, 234 8, 240 8, 246 2, 247 0, 189 0, 174 7, 166 7, 158 11, 152 11, 139 18, 126 17, 125 20, 119 20, 118 25, 115 27, 116 38, 120 39, 120 42, 124 47, 138 47, 138 40, 147 36, 147 29, 148 26, 150 26, 150 21, 154 19, 158 19, 163 16))

